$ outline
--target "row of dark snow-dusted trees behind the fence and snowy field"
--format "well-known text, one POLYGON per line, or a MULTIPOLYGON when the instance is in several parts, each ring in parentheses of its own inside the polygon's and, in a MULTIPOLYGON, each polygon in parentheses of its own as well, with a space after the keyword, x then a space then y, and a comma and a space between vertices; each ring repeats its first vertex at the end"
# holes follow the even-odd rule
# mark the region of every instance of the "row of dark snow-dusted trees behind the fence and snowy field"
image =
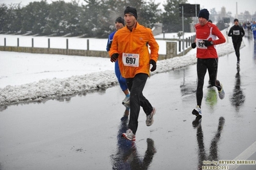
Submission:
MULTIPOLYGON (((114 21, 123 17, 126 6, 134 6, 138 22, 146 27, 155 23, 163 24, 163 31, 172 33, 182 30, 179 4, 187 0, 167 0, 164 12, 154 0, 79 0, 33 2, 21 4, 0 4, 0 33, 28 33, 33 35, 67 35, 107 38, 114 31, 114 21)), ((215 9, 210 10, 214 15, 215 9)), ((190 31, 191 17, 185 17, 184 29, 190 31)))

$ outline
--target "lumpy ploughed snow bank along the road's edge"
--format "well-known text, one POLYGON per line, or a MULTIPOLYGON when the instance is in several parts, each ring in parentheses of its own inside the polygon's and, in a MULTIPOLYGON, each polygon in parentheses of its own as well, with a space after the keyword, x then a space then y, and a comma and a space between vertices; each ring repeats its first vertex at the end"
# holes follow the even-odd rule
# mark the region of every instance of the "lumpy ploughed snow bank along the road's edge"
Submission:
MULTIPOLYGON (((244 47, 244 43, 241 45, 244 47)), ((232 43, 216 45, 218 55, 224 56, 234 52, 232 43)), ((195 49, 192 49, 196 52, 195 49)), ((183 66, 196 63, 195 54, 165 59, 157 62, 155 73, 168 72, 183 66)), ((65 79, 42 79, 38 82, 22 84, 21 86, 6 86, 0 88, 0 105, 18 104, 21 102, 42 102, 48 98, 64 97, 78 93, 107 89, 117 84, 114 69, 105 72, 76 75, 65 79)))

